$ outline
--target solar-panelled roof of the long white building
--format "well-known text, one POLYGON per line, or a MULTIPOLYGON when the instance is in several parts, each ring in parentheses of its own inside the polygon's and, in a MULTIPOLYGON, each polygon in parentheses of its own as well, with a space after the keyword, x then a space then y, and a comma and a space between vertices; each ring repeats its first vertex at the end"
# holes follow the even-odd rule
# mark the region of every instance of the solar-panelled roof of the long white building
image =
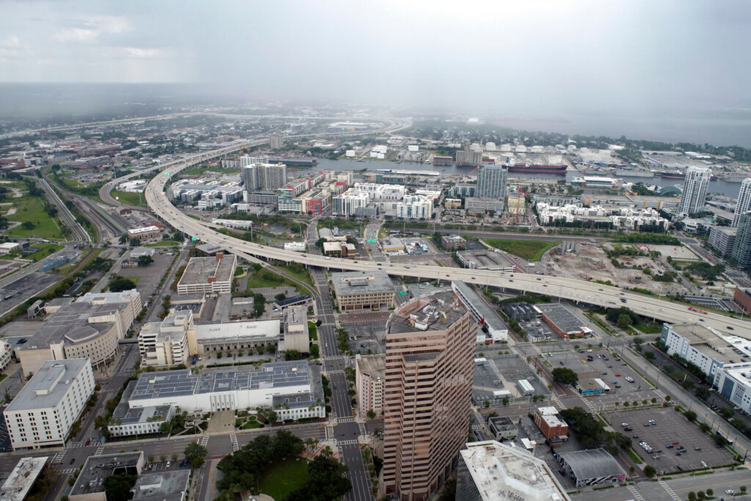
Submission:
POLYGON ((311 385, 312 367, 306 361, 290 361, 262 364, 258 369, 249 365, 204 369, 198 374, 190 369, 143 373, 129 400, 311 385))

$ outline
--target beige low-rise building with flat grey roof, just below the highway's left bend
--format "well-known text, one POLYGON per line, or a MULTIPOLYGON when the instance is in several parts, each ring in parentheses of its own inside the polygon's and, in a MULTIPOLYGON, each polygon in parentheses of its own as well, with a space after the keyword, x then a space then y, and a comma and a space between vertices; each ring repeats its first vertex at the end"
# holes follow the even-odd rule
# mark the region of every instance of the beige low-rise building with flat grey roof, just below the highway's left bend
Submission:
POLYGON ((177 282, 177 294, 231 292, 237 256, 217 252, 211 258, 191 258, 177 282))

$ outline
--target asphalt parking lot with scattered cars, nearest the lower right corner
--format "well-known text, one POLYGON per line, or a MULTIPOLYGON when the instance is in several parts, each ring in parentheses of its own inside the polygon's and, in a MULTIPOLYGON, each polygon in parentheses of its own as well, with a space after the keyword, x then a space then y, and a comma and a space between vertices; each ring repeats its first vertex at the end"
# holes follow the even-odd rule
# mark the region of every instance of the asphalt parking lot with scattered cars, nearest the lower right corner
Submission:
POLYGON ((707 466, 720 466, 732 461, 731 454, 725 448, 716 448, 712 437, 707 433, 701 433, 698 425, 686 421, 683 414, 676 412, 673 407, 652 407, 631 411, 619 411, 606 413, 614 430, 629 436, 634 442, 634 451, 639 454, 647 464, 654 466, 658 472, 675 472, 677 466, 683 469, 701 468, 701 461, 707 466), (650 419, 656 422, 649 424, 650 419), (621 424, 627 423, 633 431, 623 431, 621 424), (649 424, 645 426, 645 424, 649 424), (638 438, 633 438, 638 435, 638 438), (647 454, 638 444, 647 442, 653 450, 662 449, 662 452, 653 451, 647 454), (672 442, 680 442, 672 448, 672 442), (676 456, 677 447, 683 445, 686 452, 676 456), (701 450, 696 451, 699 447, 701 450), (658 459, 653 457, 657 456, 658 459))

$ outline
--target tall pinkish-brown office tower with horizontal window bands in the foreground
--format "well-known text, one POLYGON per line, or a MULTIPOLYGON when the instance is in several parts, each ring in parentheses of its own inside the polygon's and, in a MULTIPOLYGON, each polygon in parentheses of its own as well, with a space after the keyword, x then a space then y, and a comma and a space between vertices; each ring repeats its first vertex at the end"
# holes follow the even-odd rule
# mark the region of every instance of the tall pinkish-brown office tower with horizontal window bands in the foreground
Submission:
POLYGON ((380 495, 423 501, 455 469, 469 427, 476 333, 452 292, 416 297, 388 319, 380 495))

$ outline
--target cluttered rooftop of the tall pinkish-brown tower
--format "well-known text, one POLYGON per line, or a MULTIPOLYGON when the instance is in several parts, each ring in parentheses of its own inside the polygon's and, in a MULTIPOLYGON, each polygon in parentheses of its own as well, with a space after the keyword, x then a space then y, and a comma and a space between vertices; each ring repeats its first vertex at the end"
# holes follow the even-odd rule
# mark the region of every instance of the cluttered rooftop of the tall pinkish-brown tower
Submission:
POLYGON ((415 297, 391 314, 386 325, 388 333, 445 330, 467 312, 453 292, 436 292, 415 297))

